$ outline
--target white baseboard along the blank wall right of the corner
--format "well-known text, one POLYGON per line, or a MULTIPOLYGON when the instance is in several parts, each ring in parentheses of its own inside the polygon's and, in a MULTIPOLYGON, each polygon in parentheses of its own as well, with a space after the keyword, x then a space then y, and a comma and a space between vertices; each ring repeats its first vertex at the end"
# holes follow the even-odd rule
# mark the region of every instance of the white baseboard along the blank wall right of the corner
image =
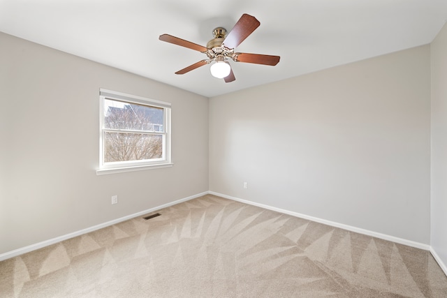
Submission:
POLYGON ((431 246, 428 245, 428 244, 422 244, 422 243, 419 243, 419 242, 416 242, 416 241, 402 239, 402 238, 390 236, 390 235, 387 235, 387 234, 381 234, 379 232, 373 232, 373 231, 370 231, 370 230, 356 228, 356 227, 353 227, 351 225, 345 225, 343 223, 335 223, 334 221, 326 221, 325 219, 316 218, 314 216, 308 216, 308 215, 305 215, 305 214, 300 214, 298 212, 288 211, 288 210, 285 210, 285 209, 280 209, 280 208, 268 206, 268 205, 265 205, 265 204, 259 204, 259 203, 256 203, 256 202, 242 200, 240 198, 231 197, 230 195, 223 195, 222 193, 216 193, 214 191, 209 191, 208 193, 210 193, 210 195, 217 195, 219 197, 230 199, 230 200, 235 200, 237 202, 242 202, 242 203, 245 203, 245 204, 251 204, 251 205, 254 205, 256 207, 261 207, 261 208, 264 208, 264 209, 277 211, 277 212, 288 214, 288 215, 291 215, 291 216, 304 218, 304 219, 307 219, 309 221, 315 221, 316 223, 323 223, 325 225, 330 225, 330 226, 335 227, 335 228, 341 228, 341 229, 344 229, 344 230, 349 230, 351 232, 356 232, 356 233, 359 233, 359 234, 365 234, 365 235, 376 237, 376 238, 379 238, 379 239, 393 241, 393 242, 398 243, 398 244, 404 244, 406 246, 412 246, 412 247, 420 248, 420 249, 423 249, 425 251, 430 251, 431 250, 431 246))

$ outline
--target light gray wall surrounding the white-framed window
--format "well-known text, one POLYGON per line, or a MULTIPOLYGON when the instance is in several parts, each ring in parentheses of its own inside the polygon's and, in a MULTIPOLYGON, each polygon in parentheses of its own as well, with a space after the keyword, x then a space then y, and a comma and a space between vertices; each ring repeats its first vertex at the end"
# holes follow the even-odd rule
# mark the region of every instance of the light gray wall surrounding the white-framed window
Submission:
POLYGON ((0 253, 208 190, 207 98, 4 33, 0 66, 0 253), (173 167, 96 176, 99 88, 172 103, 173 167))

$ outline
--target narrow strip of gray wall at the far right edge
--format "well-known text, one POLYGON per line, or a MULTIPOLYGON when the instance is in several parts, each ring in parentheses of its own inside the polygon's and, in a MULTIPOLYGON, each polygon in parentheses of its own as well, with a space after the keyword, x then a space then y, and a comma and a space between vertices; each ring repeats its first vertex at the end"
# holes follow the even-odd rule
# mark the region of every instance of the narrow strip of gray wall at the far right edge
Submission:
MULTIPOLYGON (((432 45, 432 248, 447 265, 447 25, 432 45)), ((447 268, 444 267, 444 271, 447 268)))

